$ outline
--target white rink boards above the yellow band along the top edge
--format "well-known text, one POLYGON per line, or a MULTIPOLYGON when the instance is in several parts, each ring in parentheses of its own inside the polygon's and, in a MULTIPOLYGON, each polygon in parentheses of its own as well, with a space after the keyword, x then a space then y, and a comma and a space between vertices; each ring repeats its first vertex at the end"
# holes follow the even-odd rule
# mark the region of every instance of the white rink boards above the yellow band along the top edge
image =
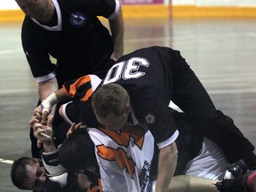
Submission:
MULTIPOLYGON (((170 0, 164 0, 168 3, 170 0)), ((171 0, 174 5, 196 6, 256 6, 256 0, 171 0)), ((0 0, 0 10, 20 9, 15 0, 0 0)))

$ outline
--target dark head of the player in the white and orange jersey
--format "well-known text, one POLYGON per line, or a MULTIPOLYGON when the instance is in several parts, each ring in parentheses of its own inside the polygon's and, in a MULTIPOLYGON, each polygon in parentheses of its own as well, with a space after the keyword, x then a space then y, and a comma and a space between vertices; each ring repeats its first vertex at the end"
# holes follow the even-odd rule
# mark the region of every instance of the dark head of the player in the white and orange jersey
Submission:
POLYGON ((60 164, 70 170, 79 171, 97 164, 94 144, 88 134, 70 135, 59 148, 60 164))

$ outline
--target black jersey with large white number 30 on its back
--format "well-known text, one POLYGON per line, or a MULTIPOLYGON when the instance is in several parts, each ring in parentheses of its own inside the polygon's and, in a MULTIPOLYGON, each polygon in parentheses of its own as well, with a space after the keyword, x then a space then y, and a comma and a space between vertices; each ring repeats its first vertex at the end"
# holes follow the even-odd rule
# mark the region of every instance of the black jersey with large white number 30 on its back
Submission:
MULTIPOLYGON (((130 121, 148 123, 156 143, 170 138, 177 126, 170 111, 173 78, 181 70, 180 52, 167 47, 149 47, 124 55, 108 70, 104 84, 121 84, 132 104, 130 121)), ((184 65, 186 70, 188 65, 184 65)))

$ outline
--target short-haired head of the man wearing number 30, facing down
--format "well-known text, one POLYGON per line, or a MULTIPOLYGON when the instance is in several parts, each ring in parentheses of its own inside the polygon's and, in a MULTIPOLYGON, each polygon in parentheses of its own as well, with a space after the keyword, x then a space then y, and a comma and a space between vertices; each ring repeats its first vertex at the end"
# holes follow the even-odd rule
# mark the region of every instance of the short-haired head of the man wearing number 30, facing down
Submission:
POLYGON ((92 95, 92 108, 100 124, 118 131, 124 127, 131 112, 128 92, 119 84, 105 84, 92 95))

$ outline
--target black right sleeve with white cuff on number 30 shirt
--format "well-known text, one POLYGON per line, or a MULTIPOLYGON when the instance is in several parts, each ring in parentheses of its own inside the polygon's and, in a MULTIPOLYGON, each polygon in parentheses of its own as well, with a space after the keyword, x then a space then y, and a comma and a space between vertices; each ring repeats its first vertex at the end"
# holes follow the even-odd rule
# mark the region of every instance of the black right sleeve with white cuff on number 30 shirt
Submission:
POLYGON ((139 121, 148 124, 158 148, 164 148, 177 139, 177 125, 163 92, 154 87, 143 87, 132 95, 132 108, 139 121))

